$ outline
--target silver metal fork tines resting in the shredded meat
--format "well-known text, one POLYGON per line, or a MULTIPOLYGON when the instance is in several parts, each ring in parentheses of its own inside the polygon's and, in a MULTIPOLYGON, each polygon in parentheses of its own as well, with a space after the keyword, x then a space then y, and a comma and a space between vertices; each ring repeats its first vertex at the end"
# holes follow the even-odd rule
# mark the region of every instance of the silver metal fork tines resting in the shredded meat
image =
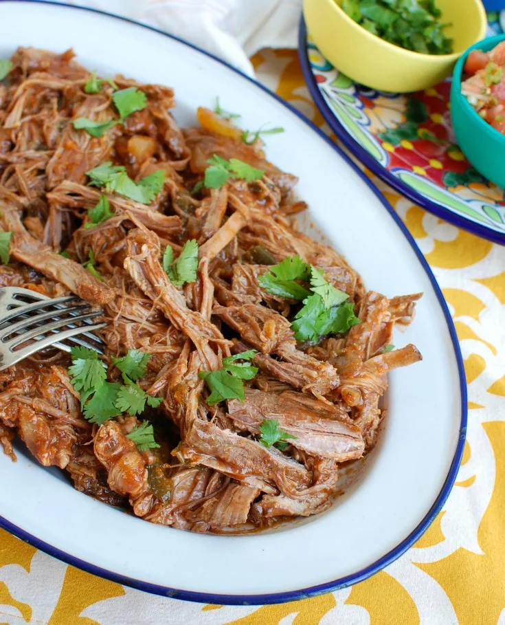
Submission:
POLYGON ((78 344, 102 353, 103 342, 93 331, 106 323, 92 321, 100 315, 100 309, 76 295, 50 298, 0 287, 0 371, 49 346, 70 351, 71 344, 78 344))

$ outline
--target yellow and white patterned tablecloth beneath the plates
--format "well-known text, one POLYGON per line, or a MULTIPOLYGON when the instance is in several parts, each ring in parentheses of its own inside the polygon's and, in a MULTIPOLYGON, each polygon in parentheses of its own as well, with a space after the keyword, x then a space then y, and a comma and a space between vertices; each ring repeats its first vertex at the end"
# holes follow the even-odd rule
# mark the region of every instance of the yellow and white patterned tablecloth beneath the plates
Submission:
MULTIPOLYGON (((296 52, 263 50, 251 61, 262 83, 328 131, 296 52)), ((0 530, 0 625, 505 625, 505 248, 374 183, 442 287, 467 373, 462 466, 423 538, 352 588, 282 605, 210 606, 96 578, 0 530)))

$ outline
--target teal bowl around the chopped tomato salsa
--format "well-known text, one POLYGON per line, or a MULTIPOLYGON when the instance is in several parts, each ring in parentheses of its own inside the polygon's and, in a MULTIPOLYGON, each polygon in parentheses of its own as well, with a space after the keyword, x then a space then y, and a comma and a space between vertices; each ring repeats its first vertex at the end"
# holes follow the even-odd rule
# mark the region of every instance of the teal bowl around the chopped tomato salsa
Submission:
POLYGON ((501 187, 505 187, 505 135, 484 122, 462 96, 461 77, 471 50, 489 52, 504 39, 505 35, 497 35, 469 47, 454 67, 451 86, 451 121, 461 151, 484 178, 501 187))

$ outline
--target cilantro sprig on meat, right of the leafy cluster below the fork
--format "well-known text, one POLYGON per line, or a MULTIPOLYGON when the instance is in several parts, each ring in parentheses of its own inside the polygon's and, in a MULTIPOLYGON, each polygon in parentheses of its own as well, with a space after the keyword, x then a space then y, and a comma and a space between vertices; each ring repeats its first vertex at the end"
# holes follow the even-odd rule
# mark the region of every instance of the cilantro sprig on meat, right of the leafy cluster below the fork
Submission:
POLYGON ((207 397, 209 406, 223 402, 223 399, 244 401, 243 380, 252 380, 258 373, 258 368, 251 366, 249 362, 255 353, 254 349, 250 349, 249 351, 229 356, 229 358, 223 358, 223 366, 218 371, 200 371, 199 377, 205 380, 211 391, 207 397), (239 363, 236 362, 237 360, 245 360, 245 362, 239 363))

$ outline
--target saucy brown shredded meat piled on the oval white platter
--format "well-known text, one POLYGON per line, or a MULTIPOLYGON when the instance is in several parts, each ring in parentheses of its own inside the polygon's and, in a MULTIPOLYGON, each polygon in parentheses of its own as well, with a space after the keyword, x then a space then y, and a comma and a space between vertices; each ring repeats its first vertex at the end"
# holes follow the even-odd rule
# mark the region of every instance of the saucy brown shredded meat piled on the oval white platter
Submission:
POLYGON ((119 375, 111 357, 150 354, 139 385, 163 401, 142 417, 160 446, 139 450, 127 437, 137 417, 100 426, 85 419, 69 357, 51 349, 0 373, 5 453, 15 460, 17 436, 80 492, 182 529, 245 531, 322 512, 337 493, 339 464, 374 446, 388 371, 420 360, 412 345, 385 349, 420 294, 367 292, 342 256, 293 226, 304 209, 292 195, 296 177, 212 111, 199 109, 201 127, 179 129, 168 87, 116 76, 117 88, 143 91, 147 106, 100 137, 75 129, 77 118, 117 113, 113 86, 87 94, 91 72, 73 56, 20 48, 0 82, 0 228, 12 232, 0 286, 72 292, 100 306, 109 380, 119 375), (265 175, 191 194, 213 155, 265 175), (106 193, 113 216, 85 228, 105 193, 86 172, 107 161, 134 181, 162 169, 164 185, 150 204, 106 193), (161 256, 170 244, 177 259, 190 239, 199 245, 197 280, 175 286, 161 256), (101 280, 85 266, 90 250, 101 280), (291 320, 302 304, 267 292, 258 277, 296 255, 348 295, 359 318, 348 332, 295 339, 291 320), (251 349, 258 373, 245 382, 244 401, 210 406, 199 372, 251 349), (265 420, 291 436, 287 444, 260 442, 265 420))

